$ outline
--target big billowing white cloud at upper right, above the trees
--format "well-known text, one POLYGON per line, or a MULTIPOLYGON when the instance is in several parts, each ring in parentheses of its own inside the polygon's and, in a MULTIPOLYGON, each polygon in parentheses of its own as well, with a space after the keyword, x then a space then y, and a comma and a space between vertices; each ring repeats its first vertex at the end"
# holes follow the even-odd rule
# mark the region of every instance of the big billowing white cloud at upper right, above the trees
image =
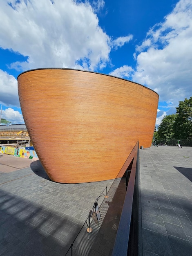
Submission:
POLYGON ((172 102, 192 94, 192 2, 180 0, 164 22, 154 25, 136 47, 137 68, 132 79, 172 102))

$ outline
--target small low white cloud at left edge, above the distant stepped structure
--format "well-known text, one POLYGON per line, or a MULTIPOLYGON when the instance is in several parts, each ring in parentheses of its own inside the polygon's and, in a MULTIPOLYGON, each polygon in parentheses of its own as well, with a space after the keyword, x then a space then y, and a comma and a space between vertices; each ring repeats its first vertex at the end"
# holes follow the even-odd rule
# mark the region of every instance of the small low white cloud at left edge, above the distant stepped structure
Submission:
POLYGON ((2 110, 2 118, 10 121, 12 124, 24 124, 24 120, 19 111, 13 108, 2 110))

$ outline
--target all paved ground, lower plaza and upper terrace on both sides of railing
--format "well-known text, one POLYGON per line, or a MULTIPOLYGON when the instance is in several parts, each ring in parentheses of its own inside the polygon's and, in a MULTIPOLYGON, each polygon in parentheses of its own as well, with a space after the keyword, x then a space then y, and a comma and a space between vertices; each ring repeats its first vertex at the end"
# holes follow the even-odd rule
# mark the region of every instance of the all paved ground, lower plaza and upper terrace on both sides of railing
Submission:
MULTIPOLYGON (((192 148, 139 153, 140 256, 191 256, 192 148)), ((0 154, 0 255, 64 256, 80 230, 73 255, 111 255, 124 198, 124 178, 59 184, 39 160, 0 154), (99 196, 101 219, 99 225, 91 219, 88 233, 85 220, 99 196)))

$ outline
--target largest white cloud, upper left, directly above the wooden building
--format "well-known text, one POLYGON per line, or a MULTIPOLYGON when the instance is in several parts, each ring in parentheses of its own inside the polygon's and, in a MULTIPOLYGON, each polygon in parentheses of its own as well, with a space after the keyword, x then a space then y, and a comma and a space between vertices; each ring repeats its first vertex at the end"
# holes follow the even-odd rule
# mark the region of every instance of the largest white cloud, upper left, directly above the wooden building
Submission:
POLYGON ((0 47, 28 56, 26 62, 12 63, 11 68, 96 70, 109 61, 110 38, 87 1, 3 1, 0 17, 0 47))

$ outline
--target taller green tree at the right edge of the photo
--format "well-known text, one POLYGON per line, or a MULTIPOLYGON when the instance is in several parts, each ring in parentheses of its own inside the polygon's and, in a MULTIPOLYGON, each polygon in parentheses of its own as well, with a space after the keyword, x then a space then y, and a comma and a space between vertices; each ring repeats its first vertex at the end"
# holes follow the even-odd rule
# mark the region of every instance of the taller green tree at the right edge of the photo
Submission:
POLYGON ((179 101, 174 133, 176 139, 192 139, 192 97, 179 101))

